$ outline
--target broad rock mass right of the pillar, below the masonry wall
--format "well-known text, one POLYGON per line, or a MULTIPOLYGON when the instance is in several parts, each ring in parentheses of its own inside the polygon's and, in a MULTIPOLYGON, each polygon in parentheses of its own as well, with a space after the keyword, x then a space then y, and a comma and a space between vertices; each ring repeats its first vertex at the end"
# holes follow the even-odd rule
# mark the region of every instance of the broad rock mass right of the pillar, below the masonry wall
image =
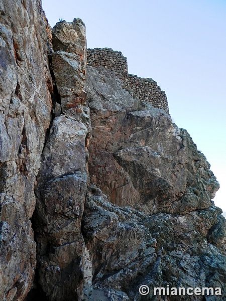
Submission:
MULTIPOLYGON (((112 289, 127 294, 113 293, 112 300, 142 299, 141 284, 150 287, 148 300, 167 284, 220 287, 223 299, 226 224, 211 201, 218 183, 210 166, 186 130, 122 85, 101 66, 87 68, 90 182, 118 205, 100 192, 86 199, 92 283, 105 288, 105 297, 112 289)), ((194 296, 167 298, 182 299, 194 296)))

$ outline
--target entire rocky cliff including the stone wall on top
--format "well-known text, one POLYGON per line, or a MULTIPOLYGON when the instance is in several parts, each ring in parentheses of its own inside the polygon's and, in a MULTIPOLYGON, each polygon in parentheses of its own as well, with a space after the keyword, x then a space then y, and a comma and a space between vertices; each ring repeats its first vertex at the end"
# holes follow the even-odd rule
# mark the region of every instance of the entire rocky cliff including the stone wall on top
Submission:
POLYGON ((226 299, 218 183, 165 93, 86 51, 80 19, 0 13, 1 300, 226 299), (154 295, 167 285, 221 295, 154 295))

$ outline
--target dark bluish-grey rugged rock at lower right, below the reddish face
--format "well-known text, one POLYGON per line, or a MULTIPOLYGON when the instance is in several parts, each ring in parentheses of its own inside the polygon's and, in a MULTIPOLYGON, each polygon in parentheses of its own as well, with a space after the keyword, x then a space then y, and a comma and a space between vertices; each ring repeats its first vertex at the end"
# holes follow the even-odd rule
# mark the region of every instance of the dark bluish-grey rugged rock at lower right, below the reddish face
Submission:
MULTIPOLYGON (((225 253, 208 235, 219 229, 220 213, 211 206, 186 215, 147 215, 132 207, 110 204, 99 189, 92 188, 86 199, 83 229, 93 288, 85 287, 84 299, 95 299, 101 288, 106 300, 143 300, 139 294, 142 284, 150 287, 147 300, 158 300, 154 287, 167 284, 220 287, 222 295, 209 299, 224 299, 225 253)), ((224 231, 220 232, 218 237, 224 231)), ((170 296, 167 300, 194 300, 194 296, 170 296)), ((196 300, 203 300, 203 296, 196 296, 196 300)))

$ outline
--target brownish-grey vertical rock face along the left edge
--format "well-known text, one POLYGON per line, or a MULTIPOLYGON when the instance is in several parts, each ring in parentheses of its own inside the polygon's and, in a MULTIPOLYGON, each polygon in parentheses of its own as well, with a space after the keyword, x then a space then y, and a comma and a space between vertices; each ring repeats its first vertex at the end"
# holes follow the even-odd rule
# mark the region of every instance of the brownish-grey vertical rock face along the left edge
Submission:
POLYGON ((0 75, 0 299, 23 300, 36 267, 30 219, 52 108, 41 1, 1 0, 0 75))

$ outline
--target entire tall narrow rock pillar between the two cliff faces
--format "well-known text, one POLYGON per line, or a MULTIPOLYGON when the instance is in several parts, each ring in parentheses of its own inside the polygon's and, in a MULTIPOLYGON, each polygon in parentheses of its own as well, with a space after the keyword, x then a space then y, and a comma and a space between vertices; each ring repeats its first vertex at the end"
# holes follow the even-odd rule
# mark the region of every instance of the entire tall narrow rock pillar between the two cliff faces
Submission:
POLYGON ((43 294, 48 300, 69 301, 82 295, 84 278, 81 222, 87 191, 90 121, 89 109, 84 105, 86 50, 81 20, 56 25, 53 50, 52 72, 63 114, 53 119, 43 150, 34 225, 38 282, 43 294), (76 91, 81 101, 68 96, 68 106, 62 91, 76 91))

